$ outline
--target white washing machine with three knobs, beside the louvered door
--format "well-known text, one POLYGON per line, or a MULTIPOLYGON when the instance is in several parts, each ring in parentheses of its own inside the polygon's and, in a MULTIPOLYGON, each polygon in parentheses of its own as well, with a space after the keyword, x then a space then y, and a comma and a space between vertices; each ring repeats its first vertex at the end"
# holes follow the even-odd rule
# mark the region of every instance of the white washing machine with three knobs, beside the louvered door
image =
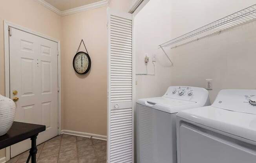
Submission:
POLYGON ((136 103, 137 163, 176 163, 176 114, 210 105, 208 91, 169 87, 165 95, 136 103))

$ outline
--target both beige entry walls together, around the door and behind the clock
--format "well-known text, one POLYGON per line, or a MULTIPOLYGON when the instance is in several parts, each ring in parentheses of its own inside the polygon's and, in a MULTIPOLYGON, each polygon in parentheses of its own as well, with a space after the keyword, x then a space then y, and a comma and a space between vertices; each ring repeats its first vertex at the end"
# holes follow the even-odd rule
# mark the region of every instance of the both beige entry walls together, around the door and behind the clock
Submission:
POLYGON ((106 135, 106 18, 106 7, 61 18, 34 0, 1 2, 0 94, 5 94, 3 20, 6 20, 61 40, 62 129, 106 135), (12 10, 7 6, 12 6, 12 10), (72 67, 81 38, 92 60, 86 77, 75 74, 72 67))

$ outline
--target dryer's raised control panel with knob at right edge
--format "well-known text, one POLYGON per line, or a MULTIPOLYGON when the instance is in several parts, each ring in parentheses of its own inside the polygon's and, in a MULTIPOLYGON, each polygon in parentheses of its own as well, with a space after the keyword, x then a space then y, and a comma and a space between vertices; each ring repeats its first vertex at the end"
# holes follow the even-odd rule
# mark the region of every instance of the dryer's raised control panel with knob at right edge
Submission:
POLYGON ((221 90, 212 106, 237 112, 256 114, 256 90, 221 90))

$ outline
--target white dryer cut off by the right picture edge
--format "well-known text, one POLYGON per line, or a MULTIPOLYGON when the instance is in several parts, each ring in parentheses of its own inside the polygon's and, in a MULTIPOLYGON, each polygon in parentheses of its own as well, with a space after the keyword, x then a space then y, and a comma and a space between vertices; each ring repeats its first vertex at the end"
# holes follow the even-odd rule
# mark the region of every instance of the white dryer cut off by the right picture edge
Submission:
POLYGON ((178 163, 256 163, 256 90, 222 90, 177 114, 178 163))

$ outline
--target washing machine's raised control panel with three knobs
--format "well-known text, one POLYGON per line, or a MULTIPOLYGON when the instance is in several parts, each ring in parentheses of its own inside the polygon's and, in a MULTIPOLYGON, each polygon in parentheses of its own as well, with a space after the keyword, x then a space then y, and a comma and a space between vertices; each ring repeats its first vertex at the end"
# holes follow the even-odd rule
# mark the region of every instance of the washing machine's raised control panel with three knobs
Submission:
POLYGON ((207 101, 208 104, 210 103, 208 91, 199 87, 171 86, 163 97, 200 103, 207 101))

